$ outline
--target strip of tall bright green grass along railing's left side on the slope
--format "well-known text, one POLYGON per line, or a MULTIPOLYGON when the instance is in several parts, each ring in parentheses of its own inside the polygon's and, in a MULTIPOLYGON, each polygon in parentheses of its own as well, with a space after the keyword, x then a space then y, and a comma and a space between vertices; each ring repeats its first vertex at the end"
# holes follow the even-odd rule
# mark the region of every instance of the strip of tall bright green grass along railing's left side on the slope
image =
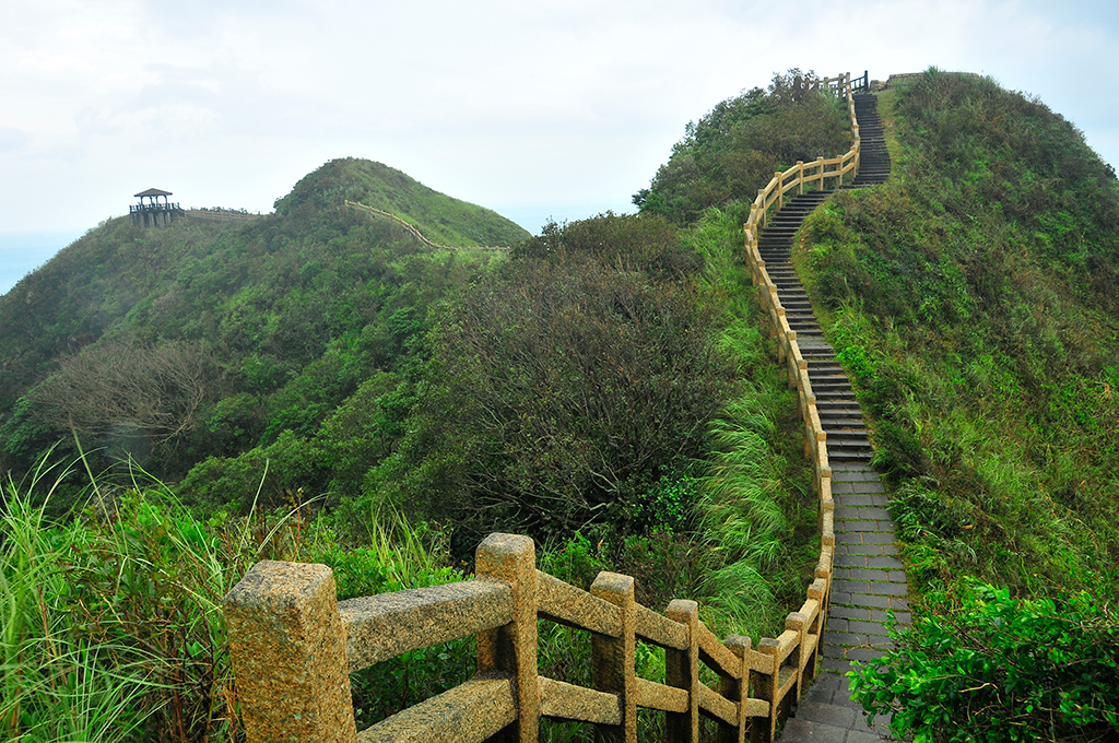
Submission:
POLYGON ((689 234, 725 308, 721 344, 737 364, 736 396, 712 422, 712 454, 696 502, 705 553, 698 592, 713 624, 772 636, 803 591, 819 537, 799 449, 796 396, 773 363, 745 280, 741 209, 709 209, 689 234))

